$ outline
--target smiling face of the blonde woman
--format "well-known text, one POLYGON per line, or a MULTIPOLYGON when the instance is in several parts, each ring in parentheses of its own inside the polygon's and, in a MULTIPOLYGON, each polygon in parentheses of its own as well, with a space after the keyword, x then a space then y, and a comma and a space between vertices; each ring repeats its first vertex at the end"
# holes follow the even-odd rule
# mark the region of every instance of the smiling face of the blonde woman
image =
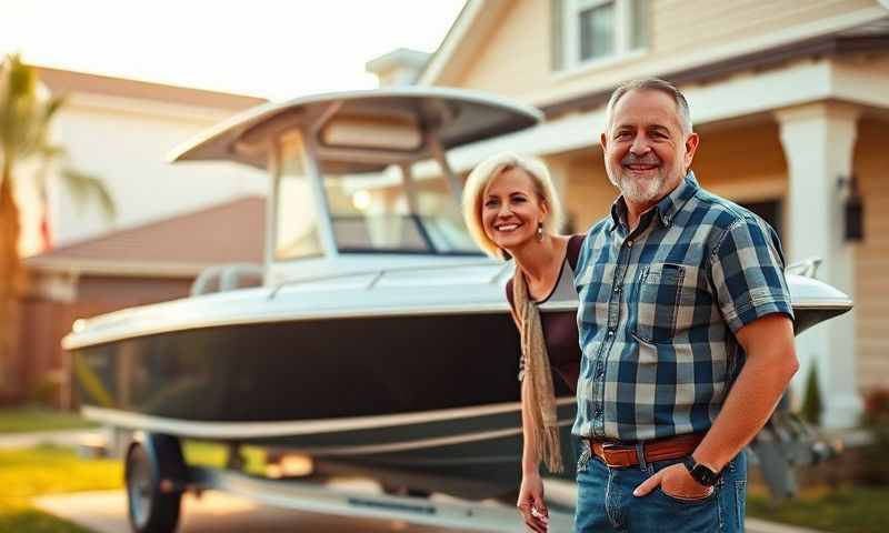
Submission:
POLYGON ((536 239, 546 215, 546 203, 521 169, 501 172, 485 188, 481 222, 485 234, 501 249, 515 250, 536 239))

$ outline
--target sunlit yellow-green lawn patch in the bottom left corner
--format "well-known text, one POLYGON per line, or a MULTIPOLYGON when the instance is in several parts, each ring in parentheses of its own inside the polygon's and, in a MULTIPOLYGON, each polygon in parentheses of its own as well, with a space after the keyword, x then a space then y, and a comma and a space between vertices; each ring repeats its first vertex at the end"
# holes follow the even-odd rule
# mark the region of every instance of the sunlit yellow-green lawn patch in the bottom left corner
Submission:
POLYGON ((37 510, 31 499, 122 486, 123 470, 116 459, 83 460, 54 446, 0 451, 0 532, 90 533, 37 510))

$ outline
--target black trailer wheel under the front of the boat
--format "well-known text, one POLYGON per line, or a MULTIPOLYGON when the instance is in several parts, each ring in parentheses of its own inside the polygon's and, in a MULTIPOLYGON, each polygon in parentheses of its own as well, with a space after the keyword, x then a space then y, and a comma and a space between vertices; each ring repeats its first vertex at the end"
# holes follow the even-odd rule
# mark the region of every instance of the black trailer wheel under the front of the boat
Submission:
POLYGON ((172 533, 182 502, 182 491, 176 484, 181 486, 186 473, 179 441, 169 435, 137 440, 127 450, 124 466, 132 531, 172 533), (173 481, 172 487, 170 481, 173 481), (168 486, 162 487, 162 484, 168 486))

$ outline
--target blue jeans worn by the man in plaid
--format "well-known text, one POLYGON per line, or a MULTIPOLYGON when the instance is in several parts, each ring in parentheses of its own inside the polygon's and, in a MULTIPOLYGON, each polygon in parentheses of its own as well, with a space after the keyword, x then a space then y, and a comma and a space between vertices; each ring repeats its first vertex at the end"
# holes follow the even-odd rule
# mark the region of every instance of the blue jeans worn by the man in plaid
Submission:
POLYGON ((670 533, 742 533, 747 499, 747 455, 726 465, 712 494, 692 502, 667 495, 660 487, 637 497, 633 489, 681 459, 609 467, 585 445, 577 467, 575 531, 670 533))

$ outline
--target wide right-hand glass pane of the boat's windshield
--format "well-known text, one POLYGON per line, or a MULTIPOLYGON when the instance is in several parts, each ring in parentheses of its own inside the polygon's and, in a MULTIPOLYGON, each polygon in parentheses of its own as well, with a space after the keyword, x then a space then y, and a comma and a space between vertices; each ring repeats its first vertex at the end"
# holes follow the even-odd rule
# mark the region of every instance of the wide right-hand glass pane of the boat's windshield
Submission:
POLYGON ((340 252, 478 254, 455 195, 434 161, 382 172, 324 172, 340 252))

